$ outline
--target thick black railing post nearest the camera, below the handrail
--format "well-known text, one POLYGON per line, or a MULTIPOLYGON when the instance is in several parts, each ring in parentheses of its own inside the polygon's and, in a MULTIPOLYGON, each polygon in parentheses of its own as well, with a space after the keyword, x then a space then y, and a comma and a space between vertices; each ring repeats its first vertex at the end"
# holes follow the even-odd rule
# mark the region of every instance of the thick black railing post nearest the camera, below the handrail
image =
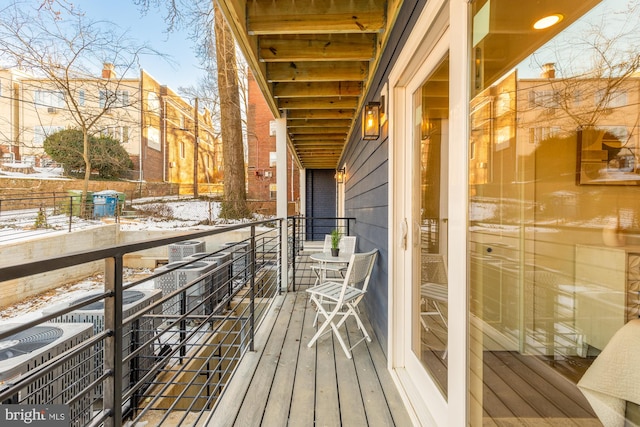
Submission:
POLYGON ((110 373, 103 383, 103 408, 110 414, 105 427, 122 426, 122 273, 122 256, 105 259, 104 287, 113 293, 104 302, 104 327, 111 331, 104 343, 104 371, 110 373))

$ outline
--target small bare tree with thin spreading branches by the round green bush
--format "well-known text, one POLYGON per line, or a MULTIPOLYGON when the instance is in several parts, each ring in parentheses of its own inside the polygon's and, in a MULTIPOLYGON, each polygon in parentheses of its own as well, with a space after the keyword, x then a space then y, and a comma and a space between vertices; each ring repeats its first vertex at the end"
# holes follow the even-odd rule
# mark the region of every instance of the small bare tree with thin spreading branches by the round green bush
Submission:
MULTIPOLYGON (((91 176, 89 143, 93 134, 127 119, 137 104, 137 85, 127 75, 139 69, 141 54, 157 54, 137 45, 112 23, 90 21, 70 4, 45 1, 13 2, 0 13, 0 56, 9 67, 47 82, 47 100, 62 104, 61 111, 83 134, 84 183, 82 204, 91 176), (96 74, 107 65, 103 74, 96 74)), ((61 105, 57 105, 60 107, 61 105)))

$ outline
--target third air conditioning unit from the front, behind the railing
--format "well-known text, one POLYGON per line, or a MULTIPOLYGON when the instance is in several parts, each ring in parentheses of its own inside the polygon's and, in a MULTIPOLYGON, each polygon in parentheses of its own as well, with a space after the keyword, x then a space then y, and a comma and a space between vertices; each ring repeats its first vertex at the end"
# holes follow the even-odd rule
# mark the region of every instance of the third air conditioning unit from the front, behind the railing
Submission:
MULTIPOLYGON (((183 262, 172 262, 154 270, 155 273, 163 272, 181 265, 183 262)), ((202 302, 211 295, 211 274, 208 274, 216 267, 214 262, 196 261, 184 265, 176 270, 169 271, 154 279, 156 289, 161 289, 163 294, 169 294, 178 288, 185 286, 198 278, 202 278, 198 283, 189 288, 186 293, 186 312, 198 307, 193 314, 205 314, 206 310, 202 302)), ((162 305, 164 314, 183 314, 180 303, 181 295, 177 295, 162 305)))

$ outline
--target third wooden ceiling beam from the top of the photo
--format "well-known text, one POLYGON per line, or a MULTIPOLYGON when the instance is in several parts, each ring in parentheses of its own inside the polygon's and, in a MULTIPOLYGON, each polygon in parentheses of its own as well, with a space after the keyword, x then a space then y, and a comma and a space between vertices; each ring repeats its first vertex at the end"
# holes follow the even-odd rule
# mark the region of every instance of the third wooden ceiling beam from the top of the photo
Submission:
POLYGON ((268 62, 270 82, 363 81, 369 73, 366 61, 268 62))

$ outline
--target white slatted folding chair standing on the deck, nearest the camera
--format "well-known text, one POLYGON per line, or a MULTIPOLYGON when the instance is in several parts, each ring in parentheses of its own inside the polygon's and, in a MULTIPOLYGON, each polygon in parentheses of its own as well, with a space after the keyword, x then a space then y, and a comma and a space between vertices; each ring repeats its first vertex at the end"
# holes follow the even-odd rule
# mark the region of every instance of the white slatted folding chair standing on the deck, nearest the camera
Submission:
POLYGON ((362 300, 371 279, 371 271, 378 255, 378 250, 371 252, 357 253, 351 255, 349 267, 342 281, 326 281, 318 286, 307 289, 311 295, 311 301, 316 305, 318 315, 324 317, 324 322, 318 328, 316 334, 311 338, 307 347, 311 347, 324 333, 331 327, 340 346, 344 350, 347 358, 351 359, 351 350, 363 340, 371 342, 371 337, 362 324, 358 316, 357 306, 362 300), (362 331, 363 337, 351 347, 347 347, 342 336, 340 327, 347 321, 349 316, 353 316, 362 331))

